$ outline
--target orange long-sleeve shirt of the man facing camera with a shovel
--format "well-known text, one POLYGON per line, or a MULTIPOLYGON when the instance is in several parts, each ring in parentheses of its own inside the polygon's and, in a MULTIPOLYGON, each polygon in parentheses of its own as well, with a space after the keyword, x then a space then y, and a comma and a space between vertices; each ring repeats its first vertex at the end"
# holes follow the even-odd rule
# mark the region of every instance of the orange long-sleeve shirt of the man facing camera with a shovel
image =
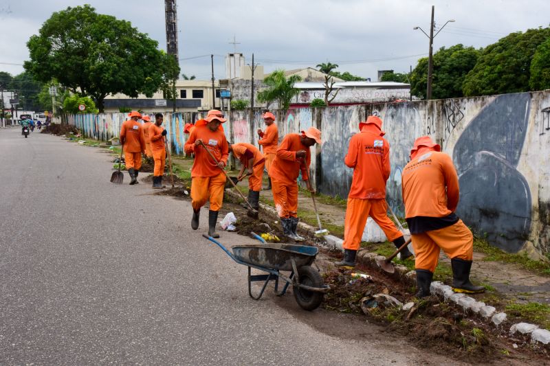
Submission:
POLYGON ((214 163, 214 160, 204 150, 203 146, 195 146, 197 139, 202 139, 206 148, 212 152, 217 161, 223 161, 224 164, 227 164, 229 145, 223 134, 223 129, 219 128, 212 132, 208 126, 195 126, 184 146, 186 154, 195 152, 195 161, 193 161, 193 167, 191 168, 192 177, 217 176, 221 173, 220 168, 214 163))

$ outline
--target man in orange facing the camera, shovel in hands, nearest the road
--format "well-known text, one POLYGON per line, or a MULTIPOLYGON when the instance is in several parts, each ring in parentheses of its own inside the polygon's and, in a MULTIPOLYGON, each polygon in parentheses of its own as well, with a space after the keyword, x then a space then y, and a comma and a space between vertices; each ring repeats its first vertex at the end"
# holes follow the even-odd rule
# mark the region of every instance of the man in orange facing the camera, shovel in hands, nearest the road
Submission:
POLYGON ((229 146, 223 134, 221 124, 227 121, 223 113, 217 110, 208 111, 205 119, 197 121, 195 129, 192 130, 189 139, 185 143, 187 154, 195 153, 195 161, 191 169, 191 205, 193 217, 191 228, 197 230, 199 227, 199 215, 201 207, 210 200, 210 211, 208 211, 208 235, 212 238, 219 238, 216 233, 216 222, 218 211, 223 202, 223 187, 225 186, 225 174, 223 169, 228 163, 229 146), (206 148, 214 155, 216 164, 206 148))

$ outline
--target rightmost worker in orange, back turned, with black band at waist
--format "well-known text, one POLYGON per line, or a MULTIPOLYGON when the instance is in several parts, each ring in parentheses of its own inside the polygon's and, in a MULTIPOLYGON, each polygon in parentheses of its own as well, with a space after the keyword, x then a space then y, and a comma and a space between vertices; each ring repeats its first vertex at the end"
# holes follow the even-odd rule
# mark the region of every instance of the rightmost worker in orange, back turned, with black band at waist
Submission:
POLYGON ((485 288, 470 282, 474 236, 454 213, 459 204, 459 177, 451 157, 429 136, 419 137, 401 180, 405 218, 416 255, 417 297, 430 295, 441 249, 451 259, 452 290, 483 293, 485 288))

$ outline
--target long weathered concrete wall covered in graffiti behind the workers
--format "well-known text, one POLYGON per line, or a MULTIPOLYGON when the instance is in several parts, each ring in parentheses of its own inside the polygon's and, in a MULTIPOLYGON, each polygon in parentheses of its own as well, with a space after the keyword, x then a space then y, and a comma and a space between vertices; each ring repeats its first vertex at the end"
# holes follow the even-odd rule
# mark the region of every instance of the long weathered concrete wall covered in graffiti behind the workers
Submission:
MULTIPOLYGON (((312 183, 322 193, 344 198, 353 174, 343 163, 349 139, 366 116, 380 116, 391 144, 387 199, 401 215, 401 172, 415 139, 430 135, 454 160, 461 185, 457 213, 468 226, 511 253, 550 253, 550 91, 274 113, 280 140, 309 126, 321 128, 324 143, 311 150, 312 183)), ((183 125, 199 117, 166 115, 173 152, 182 152, 183 125)), ((125 116, 72 119, 87 135, 108 139, 118 135, 125 116)), ((249 111, 233 112, 224 124, 228 140, 257 146, 261 113, 255 112, 252 119, 249 123, 249 111)))

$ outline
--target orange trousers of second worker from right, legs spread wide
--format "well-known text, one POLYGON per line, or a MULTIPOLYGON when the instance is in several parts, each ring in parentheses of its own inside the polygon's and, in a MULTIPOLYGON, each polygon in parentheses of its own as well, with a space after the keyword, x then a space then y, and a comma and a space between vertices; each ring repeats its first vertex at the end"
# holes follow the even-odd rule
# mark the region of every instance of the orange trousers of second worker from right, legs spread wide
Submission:
POLYGON ((389 241, 393 242, 393 240, 403 236, 403 233, 388 218, 387 212, 388 207, 384 198, 348 198, 346 220, 344 222, 344 244, 342 244, 342 247, 352 251, 359 249, 366 219, 369 216, 380 226, 389 241))

